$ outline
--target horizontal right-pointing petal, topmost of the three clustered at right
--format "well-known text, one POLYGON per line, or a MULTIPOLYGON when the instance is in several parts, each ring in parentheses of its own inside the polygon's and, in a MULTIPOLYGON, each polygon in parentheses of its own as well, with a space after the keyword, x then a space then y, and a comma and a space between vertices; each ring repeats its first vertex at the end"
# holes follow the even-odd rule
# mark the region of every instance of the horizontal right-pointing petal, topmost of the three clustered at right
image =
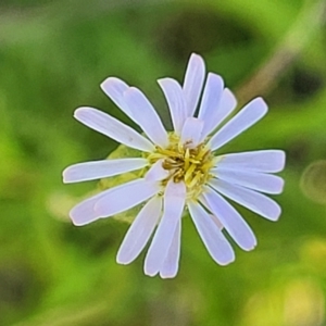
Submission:
POLYGON ((248 170, 258 172, 279 172, 285 166, 285 152, 263 150, 233 153, 217 156, 216 165, 221 168, 248 170))

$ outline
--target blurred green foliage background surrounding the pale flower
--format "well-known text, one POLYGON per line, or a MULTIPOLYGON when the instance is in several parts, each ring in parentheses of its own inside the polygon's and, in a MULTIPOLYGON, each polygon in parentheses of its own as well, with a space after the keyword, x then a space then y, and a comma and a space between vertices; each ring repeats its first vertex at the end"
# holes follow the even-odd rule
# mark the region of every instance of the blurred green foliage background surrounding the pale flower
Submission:
POLYGON ((236 89, 314 2, 1 1, 1 326, 325 325, 326 208, 300 188, 305 168, 326 158, 325 27, 268 90, 268 116, 223 148, 280 148, 288 158, 280 221, 239 208, 259 246, 236 249, 229 266, 210 259, 189 218, 175 279, 146 277, 143 254, 117 265, 128 225, 108 218, 73 226, 68 209, 97 186, 61 180, 65 166, 116 147, 74 121, 76 106, 131 124, 100 91, 105 77, 140 87, 168 124, 155 79, 181 82, 198 52, 236 89))

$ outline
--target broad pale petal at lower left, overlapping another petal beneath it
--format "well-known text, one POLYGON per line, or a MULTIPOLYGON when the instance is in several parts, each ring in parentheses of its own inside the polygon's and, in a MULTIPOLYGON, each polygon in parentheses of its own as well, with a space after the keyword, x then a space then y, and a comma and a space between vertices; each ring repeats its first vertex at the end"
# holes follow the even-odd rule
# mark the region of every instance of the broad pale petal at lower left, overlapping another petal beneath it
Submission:
POLYGON ((95 205, 97 214, 101 217, 112 216, 129 210, 148 200, 160 191, 158 183, 137 179, 108 190, 95 205))

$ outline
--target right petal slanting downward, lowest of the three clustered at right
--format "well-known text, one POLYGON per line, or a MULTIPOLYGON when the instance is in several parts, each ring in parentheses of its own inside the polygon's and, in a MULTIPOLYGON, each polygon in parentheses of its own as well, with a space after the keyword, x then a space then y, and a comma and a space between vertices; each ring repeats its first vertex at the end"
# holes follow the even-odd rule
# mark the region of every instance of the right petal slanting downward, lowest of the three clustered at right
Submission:
POLYGON ((211 179, 209 184, 222 195, 263 217, 277 221, 280 215, 280 206, 265 195, 218 179, 211 179))

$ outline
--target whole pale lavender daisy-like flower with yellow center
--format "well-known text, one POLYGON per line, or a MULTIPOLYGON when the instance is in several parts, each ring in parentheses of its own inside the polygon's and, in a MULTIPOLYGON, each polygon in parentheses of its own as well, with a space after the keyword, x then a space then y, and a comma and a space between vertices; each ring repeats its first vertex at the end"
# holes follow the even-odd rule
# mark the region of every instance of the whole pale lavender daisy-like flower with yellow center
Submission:
POLYGON ((283 151, 215 154, 261 120, 267 112, 266 103, 256 98, 224 123, 237 101, 231 91, 224 88, 222 77, 209 73, 196 114, 204 79, 202 58, 191 54, 183 87, 172 78, 159 80, 170 108, 173 131, 165 130, 156 111, 139 89, 115 77, 104 80, 101 88, 140 126, 145 136, 97 109, 75 111, 76 120, 141 151, 141 155, 67 167, 63 172, 65 183, 101 179, 140 170, 139 178, 77 204, 70 213, 71 218, 75 225, 85 225, 145 203, 123 240, 117 262, 128 264, 134 261, 156 227, 145 260, 145 273, 150 276, 160 274, 167 278, 177 274, 181 217, 187 211, 210 255, 221 265, 235 260, 223 228, 243 250, 251 250, 256 244, 249 225, 225 198, 271 221, 276 221, 281 212, 274 200, 261 192, 281 192, 283 179, 271 173, 284 168, 283 151))

